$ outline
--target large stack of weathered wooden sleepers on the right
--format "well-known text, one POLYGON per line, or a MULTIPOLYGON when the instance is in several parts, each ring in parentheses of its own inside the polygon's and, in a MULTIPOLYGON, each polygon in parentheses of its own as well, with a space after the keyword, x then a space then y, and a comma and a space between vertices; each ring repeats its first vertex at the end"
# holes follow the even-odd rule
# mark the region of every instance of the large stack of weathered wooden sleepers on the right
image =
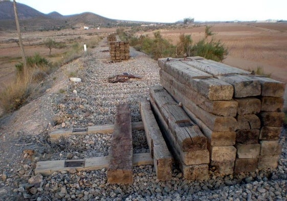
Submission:
POLYGON ((208 139, 223 174, 276 168, 285 84, 204 59, 159 59, 160 80, 208 139))

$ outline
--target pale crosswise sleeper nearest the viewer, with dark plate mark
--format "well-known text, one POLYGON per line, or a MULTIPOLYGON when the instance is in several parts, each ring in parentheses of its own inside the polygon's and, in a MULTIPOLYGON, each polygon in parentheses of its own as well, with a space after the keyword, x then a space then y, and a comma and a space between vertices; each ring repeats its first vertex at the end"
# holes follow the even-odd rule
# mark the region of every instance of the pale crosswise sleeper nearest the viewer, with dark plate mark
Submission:
MULTIPOLYGON (((66 160, 57 161, 38 161, 35 168, 35 174, 42 174, 43 176, 48 176, 53 174, 53 172, 60 171, 70 171, 71 169, 76 169, 77 171, 88 171, 88 170, 101 170, 108 167, 108 157, 93 157, 86 158, 83 160, 73 160, 75 162, 84 161, 84 166, 81 167, 64 167, 66 160)), ((71 161, 71 160, 67 160, 71 161)), ((150 157, 150 153, 135 153, 133 155, 133 165, 153 165, 153 160, 150 157)))

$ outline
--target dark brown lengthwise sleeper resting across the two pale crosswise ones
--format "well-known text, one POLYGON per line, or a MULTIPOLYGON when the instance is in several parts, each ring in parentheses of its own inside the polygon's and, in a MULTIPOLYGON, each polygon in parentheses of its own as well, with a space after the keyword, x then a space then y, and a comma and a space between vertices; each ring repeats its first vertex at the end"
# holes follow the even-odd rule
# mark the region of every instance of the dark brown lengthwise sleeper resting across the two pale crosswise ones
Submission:
POLYGON ((109 183, 133 183, 133 137, 130 108, 127 104, 117 105, 108 161, 107 181, 109 183))

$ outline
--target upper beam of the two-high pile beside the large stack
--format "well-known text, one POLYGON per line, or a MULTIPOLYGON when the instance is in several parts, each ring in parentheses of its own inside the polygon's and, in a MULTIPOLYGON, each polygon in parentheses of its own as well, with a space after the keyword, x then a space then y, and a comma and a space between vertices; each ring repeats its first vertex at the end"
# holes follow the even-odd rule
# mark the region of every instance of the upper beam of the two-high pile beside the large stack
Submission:
POLYGON ((163 87, 150 87, 149 92, 151 99, 156 102, 161 115, 173 133, 170 140, 176 141, 183 151, 207 149, 206 137, 163 87))

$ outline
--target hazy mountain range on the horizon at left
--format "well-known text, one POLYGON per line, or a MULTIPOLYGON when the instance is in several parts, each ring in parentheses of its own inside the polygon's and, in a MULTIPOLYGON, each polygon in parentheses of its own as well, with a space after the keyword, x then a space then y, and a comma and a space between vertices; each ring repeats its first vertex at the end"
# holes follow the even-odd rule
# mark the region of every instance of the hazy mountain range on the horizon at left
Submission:
MULTIPOLYGON (((124 23, 123 20, 109 19, 90 12, 64 16, 57 12, 44 14, 25 4, 17 3, 16 5, 20 26, 24 30, 81 28, 83 26, 90 26, 92 28, 124 23)), ((13 2, 0 1, 0 31, 15 29, 13 2)))

